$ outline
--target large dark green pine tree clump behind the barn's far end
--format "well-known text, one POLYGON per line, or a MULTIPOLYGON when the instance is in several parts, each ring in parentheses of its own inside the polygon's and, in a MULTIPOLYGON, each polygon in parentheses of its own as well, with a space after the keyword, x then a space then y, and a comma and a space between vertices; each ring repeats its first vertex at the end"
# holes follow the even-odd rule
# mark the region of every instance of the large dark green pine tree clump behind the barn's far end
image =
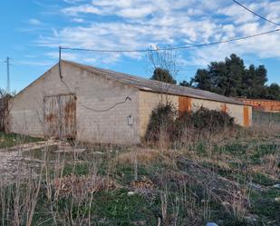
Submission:
POLYGON ((266 98, 268 95, 271 99, 276 98, 277 93, 275 84, 270 91, 270 87, 266 87, 267 71, 264 65, 256 67, 251 64, 246 69, 244 61, 237 54, 231 54, 225 61, 211 62, 208 69, 198 69, 191 81, 198 89, 226 96, 266 98))

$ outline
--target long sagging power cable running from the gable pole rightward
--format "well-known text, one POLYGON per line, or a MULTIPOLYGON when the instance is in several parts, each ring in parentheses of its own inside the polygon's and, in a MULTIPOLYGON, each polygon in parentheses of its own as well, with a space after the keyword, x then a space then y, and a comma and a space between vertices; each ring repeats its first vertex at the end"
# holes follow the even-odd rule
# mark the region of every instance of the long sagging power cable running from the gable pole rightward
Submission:
POLYGON ((279 32, 280 28, 275 30, 270 30, 263 33, 251 34, 247 36, 227 39, 225 41, 217 41, 213 43, 206 43, 206 44, 192 44, 192 45, 184 45, 184 46, 174 46, 174 47, 167 47, 167 48, 157 48, 157 49, 139 49, 139 50, 106 50, 106 49, 86 49, 86 48, 72 48, 72 47, 63 47, 60 46, 61 50, 72 50, 72 51, 85 51, 85 52, 96 52, 96 53, 145 53, 145 52, 157 52, 157 51, 171 51, 171 50, 183 50, 183 49, 191 49, 191 48, 198 48, 204 47, 209 45, 216 45, 216 44, 227 44, 237 41, 246 40, 249 38, 265 35, 265 34, 273 34, 279 32))

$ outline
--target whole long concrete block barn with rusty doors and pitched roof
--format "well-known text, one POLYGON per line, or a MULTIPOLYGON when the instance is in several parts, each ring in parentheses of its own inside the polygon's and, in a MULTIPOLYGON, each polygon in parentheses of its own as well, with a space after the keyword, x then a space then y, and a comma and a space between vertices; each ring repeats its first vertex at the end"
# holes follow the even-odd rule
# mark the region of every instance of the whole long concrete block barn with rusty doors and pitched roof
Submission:
POLYGON ((61 61, 9 103, 7 130, 81 142, 138 143, 150 113, 168 100, 179 112, 226 111, 250 126, 252 108, 217 93, 61 61))

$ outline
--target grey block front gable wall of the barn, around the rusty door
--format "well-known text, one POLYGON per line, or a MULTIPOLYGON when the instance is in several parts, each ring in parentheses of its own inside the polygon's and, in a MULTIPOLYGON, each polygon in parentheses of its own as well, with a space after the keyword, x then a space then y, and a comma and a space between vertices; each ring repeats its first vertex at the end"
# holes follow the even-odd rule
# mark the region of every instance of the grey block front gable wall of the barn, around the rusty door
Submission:
POLYGON ((140 142, 138 90, 62 63, 63 81, 58 66, 43 74, 10 103, 9 131, 43 136, 43 96, 74 93, 76 95, 77 140, 83 142, 140 142), (125 98, 130 100, 125 103, 125 98), (104 110, 117 104, 106 112, 104 110), (90 109, 89 109, 90 108, 90 109), (128 116, 131 116, 130 124, 128 116), (132 121, 132 123, 131 123, 132 121))

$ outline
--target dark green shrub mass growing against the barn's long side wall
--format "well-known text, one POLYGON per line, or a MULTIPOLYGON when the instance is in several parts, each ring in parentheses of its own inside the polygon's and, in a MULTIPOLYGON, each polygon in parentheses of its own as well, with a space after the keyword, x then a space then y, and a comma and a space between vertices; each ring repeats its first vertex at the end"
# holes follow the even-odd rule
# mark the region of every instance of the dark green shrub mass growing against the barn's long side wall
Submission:
POLYGON ((151 113, 146 140, 159 141, 162 130, 171 141, 178 141, 186 129, 195 133, 218 133, 234 126, 234 118, 228 113, 200 107, 197 112, 178 114, 170 103, 159 104, 151 113))

